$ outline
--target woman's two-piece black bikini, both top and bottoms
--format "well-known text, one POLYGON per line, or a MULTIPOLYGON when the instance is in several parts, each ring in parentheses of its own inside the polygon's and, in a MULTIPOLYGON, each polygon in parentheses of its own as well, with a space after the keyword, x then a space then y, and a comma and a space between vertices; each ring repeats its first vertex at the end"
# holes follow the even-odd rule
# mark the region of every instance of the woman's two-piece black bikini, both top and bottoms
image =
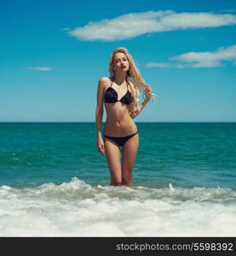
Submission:
MULTIPOLYGON (((104 96, 105 102, 106 103, 122 102, 126 105, 129 105, 131 102, 133 102, 133 97, 130 93, 130 90, 128 90, 128 83, 126 82, 126 84, 127 84, 127 92, 120 100, 118 100, 117 91, 112 88, 112 84, 111 84, 111 86, 106 89, 105 96, 104 96)), ((119 147, 123 147, 124 143, 126 143, 130 139, 130 137, 135 136, 137 133, 138 131, 136 131, 134 134, 124 136, 124 137, 111 137, 106 135, 104 135, 104 137, 111 139, 114 143, 117 143, 119 147)))

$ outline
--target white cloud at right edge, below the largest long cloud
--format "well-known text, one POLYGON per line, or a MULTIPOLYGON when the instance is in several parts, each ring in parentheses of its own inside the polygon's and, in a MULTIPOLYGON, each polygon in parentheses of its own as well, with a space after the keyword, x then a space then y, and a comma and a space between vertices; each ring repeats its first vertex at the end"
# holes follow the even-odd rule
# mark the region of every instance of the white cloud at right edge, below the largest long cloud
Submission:
POLYGON ((188 52, 182 55, 170 57, 173 62, 148 62, 146 67, 222 67, 222 61, 233 61, 236 64, 236 44, 230 47, 220 47, 215 52, 188 52))

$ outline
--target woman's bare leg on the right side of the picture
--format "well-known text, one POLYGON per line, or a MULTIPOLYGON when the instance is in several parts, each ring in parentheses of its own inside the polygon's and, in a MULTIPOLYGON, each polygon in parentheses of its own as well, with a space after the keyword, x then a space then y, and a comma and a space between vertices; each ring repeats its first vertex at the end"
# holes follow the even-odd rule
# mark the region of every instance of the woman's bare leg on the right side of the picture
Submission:
POLYGON ((130 137, 124 143, 122 149, 122 184, 131 185, 133 166, 135 165, 136 154, 139 148, 139 134, 130 137))

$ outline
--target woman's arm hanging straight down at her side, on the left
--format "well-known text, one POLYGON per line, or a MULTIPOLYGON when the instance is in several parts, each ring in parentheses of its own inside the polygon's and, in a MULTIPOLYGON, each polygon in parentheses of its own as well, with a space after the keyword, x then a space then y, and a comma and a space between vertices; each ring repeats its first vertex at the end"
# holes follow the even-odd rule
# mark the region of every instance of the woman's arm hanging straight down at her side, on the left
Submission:
POLYGON ((95 111, 96 120, 96 138, 97 138, 97 149, 101 154, 105 155, 104 143, 101 136, 101 123, 103 116, 103 89, 104 89, 105 78, 99 79, 97 87, 97 105, 95 111))

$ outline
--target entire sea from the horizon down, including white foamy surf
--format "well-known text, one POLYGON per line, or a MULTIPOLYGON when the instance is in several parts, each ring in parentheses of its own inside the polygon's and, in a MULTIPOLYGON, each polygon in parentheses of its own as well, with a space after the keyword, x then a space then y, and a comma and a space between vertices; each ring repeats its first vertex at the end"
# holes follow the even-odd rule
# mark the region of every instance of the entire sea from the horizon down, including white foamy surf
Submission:
POLYGON ((136 125, 112 187, 95 123, 0 123, 0 236, 236 236, 236 123, 136 125))

